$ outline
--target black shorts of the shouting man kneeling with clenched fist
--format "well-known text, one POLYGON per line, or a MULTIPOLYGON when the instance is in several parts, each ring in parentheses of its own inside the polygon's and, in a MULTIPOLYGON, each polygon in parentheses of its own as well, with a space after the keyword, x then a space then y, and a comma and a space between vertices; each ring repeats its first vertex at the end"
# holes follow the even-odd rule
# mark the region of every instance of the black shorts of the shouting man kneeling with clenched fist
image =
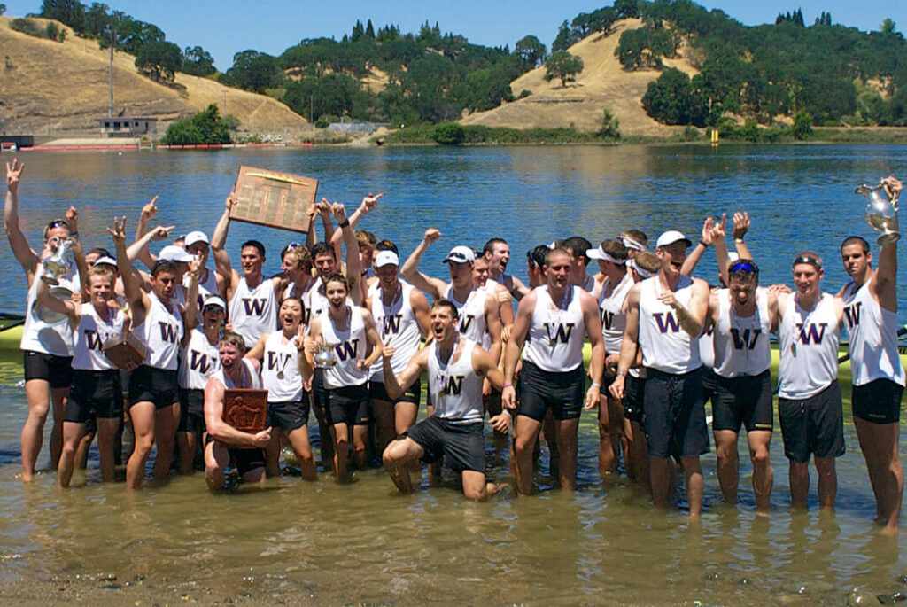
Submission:
POLYGON ((482 422, 455 424, 447 419, 428 417, 406 430, 409 436, 422 447, 426 464, 438 461, 444 456, 453 470, 473 470, 485 474, 485 444, 482 437, 482 422))

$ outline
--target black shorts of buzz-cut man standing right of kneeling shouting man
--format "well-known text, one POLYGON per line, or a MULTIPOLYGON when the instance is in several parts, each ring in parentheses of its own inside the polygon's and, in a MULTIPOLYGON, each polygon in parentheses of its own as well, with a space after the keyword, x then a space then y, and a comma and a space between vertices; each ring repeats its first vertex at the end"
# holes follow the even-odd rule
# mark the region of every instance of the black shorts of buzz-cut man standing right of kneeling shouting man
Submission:
POLYGON ((571 371, 553 373, 524 360, 520 372, 520 405, 516 414, 541 422, 551 409, 555 419, 579 419, 586 397, 585 387, 586 374, 582 365, 571 371))

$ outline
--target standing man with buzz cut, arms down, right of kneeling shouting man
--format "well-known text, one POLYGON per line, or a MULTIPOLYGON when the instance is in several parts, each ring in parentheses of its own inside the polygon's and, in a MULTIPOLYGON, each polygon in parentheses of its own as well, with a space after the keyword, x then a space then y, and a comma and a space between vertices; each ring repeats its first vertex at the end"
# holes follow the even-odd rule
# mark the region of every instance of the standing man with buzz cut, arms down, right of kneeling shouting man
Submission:
MULTIPOLYGON (((584 251, 585 254, 585 251, 584 251)), ((532 493, 532 454, 549 409, 557 426, 558 467, 561 488, 576 486, 577 432, 583 408, 586 376, 582 343, 588 335, 592 347, 585 408, 599 405, 605 350, 595 299, 571 284, 571 253, 553 249, 545 257, 548 284, 532 291, 517 308, 513 333, 504 357, 503 406, 516 410, 517 493, 532 493), (523 349, 520 405, 517 408, 513 377, 523 349)))

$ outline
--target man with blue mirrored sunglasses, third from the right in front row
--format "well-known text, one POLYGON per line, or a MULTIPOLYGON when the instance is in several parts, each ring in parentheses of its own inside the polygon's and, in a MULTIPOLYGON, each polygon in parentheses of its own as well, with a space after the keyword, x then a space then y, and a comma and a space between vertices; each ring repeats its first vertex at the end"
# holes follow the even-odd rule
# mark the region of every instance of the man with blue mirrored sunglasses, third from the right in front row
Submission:
POLYGON ((768 515, 774 473, 768 458, 772 440, 772 361, 769 333, 778 328, 778 301, 759 287, 759 269, 752 259, 738 259, 727 268, 727 289, 711 294, 709 322, 714 327, 715 374, 712 432, 717 451, 718 483, 727 504, 736 503, 739 479, 737 437, 746 426, 753 463, 756 514, 768 515))

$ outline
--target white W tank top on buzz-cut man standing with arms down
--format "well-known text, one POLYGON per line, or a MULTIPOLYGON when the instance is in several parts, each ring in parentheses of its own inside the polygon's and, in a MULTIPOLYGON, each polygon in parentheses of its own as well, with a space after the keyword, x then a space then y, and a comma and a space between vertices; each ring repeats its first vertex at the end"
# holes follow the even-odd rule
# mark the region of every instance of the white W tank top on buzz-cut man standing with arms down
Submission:
POLYGON ((551 373, 572 371, 582 365, 582 340, 586 323, 582 318, 580 287, 566 291, 567 308, 551 300, 548 285, 535 288, 535 308, 523 358, 551 373))

